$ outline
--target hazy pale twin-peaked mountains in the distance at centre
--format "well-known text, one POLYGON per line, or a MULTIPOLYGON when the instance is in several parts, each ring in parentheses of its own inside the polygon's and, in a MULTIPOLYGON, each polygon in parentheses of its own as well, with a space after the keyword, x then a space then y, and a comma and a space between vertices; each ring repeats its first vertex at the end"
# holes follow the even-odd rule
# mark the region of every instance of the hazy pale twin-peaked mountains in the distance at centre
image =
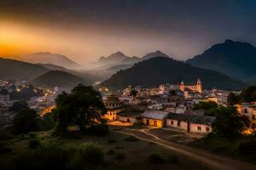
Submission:
POLYGON ((108 57, 101 57, 98 59, 98 61, 92 63, 92 65, 98 69, 98 70, 108 70, 113 68, 119 68, 119 69, 126 69, 131 67, 133 64, 151 59, 154 57, 168 57, 168 55, 158 51, 155 51, 153 53, 149 53, 144 55, 143 57, 139 58, 136 56, 129 57, 121 52, 116 52, 114 54, 110 54, 108 57))

